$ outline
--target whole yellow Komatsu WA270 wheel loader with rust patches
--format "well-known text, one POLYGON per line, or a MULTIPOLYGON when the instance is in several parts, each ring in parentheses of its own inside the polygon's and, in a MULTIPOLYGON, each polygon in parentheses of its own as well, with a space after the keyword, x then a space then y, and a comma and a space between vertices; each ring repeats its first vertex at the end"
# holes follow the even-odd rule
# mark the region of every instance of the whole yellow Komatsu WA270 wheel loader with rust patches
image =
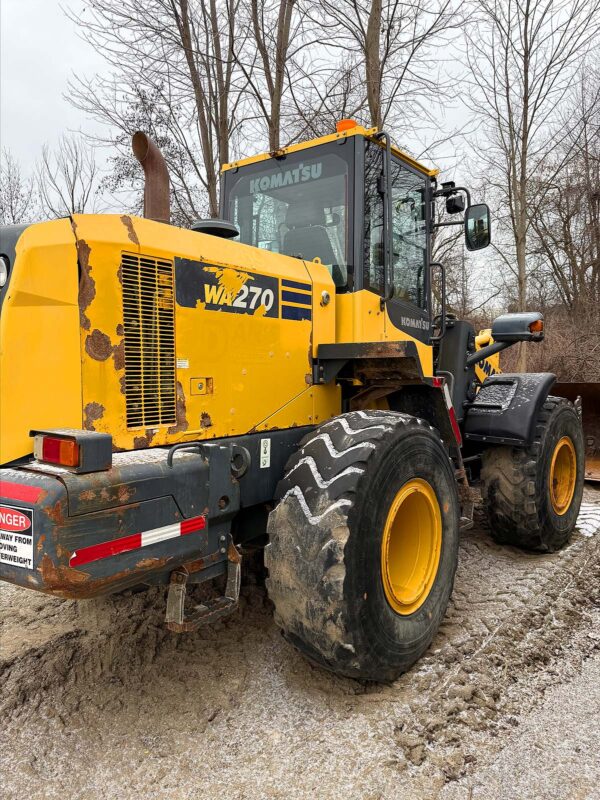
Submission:
POLYGON ((476 334, 448 313, 432 236, 460 225, 478 251, 488 208, 385 131, 344 120, 224 165, 220 218, 190 229, 158 148, 133 150, 143 218, 2 229, 0 576, 81 599, 164 584, 166 624, 193 631, 264 548, 285 638, 393 680, 442 621, 476 485, 498 542, 549 552, 574 528, 580 409, 498 363, 542 315, 476 334))

